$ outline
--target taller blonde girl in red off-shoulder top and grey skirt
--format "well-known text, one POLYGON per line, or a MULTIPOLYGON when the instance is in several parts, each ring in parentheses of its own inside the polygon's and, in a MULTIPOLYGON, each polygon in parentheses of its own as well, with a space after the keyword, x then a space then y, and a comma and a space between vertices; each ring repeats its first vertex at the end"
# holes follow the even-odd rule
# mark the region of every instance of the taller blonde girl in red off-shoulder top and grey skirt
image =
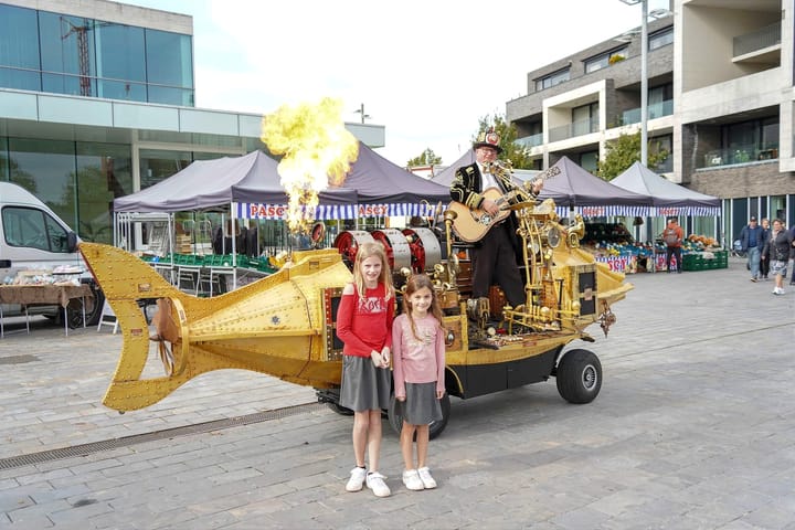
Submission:
POLYGON ((342 289, 337 311, 337 337, 342 347, 342 383, 339 404, 353 411, 353 455, 347 491, 367 484, 375 497, 391 491, 378 471, 381 454, 381 410, 389 409, 390 349, 395 293, 386 253, 381 243, 359 246, 353 282, 342 289), (364 466, 364 449, 370 469, 364 466))

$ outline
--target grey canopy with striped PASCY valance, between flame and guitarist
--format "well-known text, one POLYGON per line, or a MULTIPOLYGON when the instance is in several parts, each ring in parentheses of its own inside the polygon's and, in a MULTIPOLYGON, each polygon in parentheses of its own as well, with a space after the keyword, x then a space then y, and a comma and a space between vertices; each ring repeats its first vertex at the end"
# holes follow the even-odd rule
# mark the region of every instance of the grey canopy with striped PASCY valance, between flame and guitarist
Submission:
MULTIPOLYGON (((356 203, 356 212, 346 216, 427 215, 433 203, 449 201, 446 187, 406 171, 361 141, 359 157, 344 181, 324 193, 356 195, 351 202, 356 203)), ((263 190, 259 182, 241 182, 233 187, 233 195, 239 203, 236 213, 242 218, 267 219, 269 209, 264 205, 276 202, 273 190, 263 190)))

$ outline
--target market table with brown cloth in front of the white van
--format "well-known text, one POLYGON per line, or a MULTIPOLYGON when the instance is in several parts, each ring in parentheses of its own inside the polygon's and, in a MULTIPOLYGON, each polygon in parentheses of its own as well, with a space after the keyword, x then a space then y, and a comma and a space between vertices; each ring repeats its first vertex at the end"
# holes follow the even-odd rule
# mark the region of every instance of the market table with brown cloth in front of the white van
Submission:
POLYGON ((2 285, 0 286, 0 337, 6 336, 3 324, 3 304, 19 304, 25 310, 25 328, 30 333, 30 316, 28 307, 35 305, 60 305, 64 311, 64 332, 68 335, 68 318, 66 307, 73 299, 83 301, 83 327, 85 327, 85 299, 93 297, 91 287, 86 284, 45 284, 45 285, 2 285))

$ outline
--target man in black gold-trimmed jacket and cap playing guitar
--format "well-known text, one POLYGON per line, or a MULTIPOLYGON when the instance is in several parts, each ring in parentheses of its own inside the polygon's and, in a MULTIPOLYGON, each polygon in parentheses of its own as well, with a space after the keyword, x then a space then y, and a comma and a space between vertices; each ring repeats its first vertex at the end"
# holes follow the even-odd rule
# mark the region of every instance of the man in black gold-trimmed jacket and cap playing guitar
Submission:
MULTIPOLYGON (((451 198, 468 208, 473 213, 488 214, 488 220, 497 219, 505 212, 496 200, 516 189, 510 180, 510 171, 500 169, 495 162, 502 152, 500 137, 494 130, 481 132, 473 144, 475 163, 456 170, 451 184, 451 198), (490 193, 497 190, 498 193, 490 193), (489 192, 489 193, 487 193, 489 192), (487 197, 488 195, 488 197, 487 197)), ((541 180, 532 184, 531 193, 538 195, 543 187, 541 180)), ((471 248, 473 298, 488 297, 489 287, 497 283, 505 293, 508 303, 517 307, 524 304, 524 282, 519 273, 517 255, 519 237, 513 215, 506 215, 485 231, 485 235, 471 248)))

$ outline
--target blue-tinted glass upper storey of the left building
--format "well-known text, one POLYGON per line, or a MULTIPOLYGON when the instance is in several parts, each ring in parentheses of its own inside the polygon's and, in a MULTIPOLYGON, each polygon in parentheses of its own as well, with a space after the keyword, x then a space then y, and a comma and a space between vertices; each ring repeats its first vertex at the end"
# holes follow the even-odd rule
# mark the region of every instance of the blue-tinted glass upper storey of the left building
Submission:
POLYGON ((0 86, 194 106, 191 35, 0 4, 0 86))

